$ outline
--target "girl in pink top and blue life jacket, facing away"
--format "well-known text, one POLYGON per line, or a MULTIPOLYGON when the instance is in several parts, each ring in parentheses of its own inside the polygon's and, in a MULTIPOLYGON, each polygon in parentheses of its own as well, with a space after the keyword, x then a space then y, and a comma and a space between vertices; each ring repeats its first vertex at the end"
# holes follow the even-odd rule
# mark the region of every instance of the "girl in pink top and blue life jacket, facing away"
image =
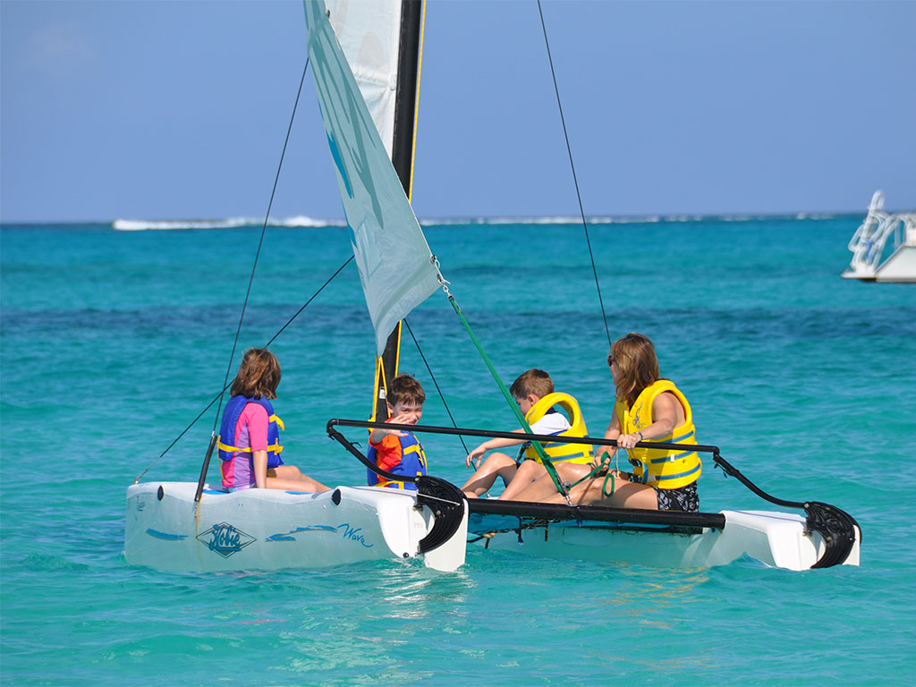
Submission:
POLYGON ((260 489, 322 492, 328 487, 280 458, 283 420, 269 398, 277 398, 280 364, 266 348, 249 348, 242 357, 226 403, 217 448, 223 486, 238 491, 260 489))

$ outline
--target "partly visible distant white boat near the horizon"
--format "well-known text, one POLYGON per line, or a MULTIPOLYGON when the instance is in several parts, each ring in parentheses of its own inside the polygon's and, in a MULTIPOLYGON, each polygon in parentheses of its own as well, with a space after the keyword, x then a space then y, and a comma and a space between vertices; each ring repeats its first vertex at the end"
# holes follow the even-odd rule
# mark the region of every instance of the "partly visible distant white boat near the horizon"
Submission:
POLYGON ((916 282, 916 213, 884 212, 884 193, 875 191, 867 217, 849 241, 849 250, 853 259, 843 273, 845 279, 916 282), (891 235, 893 252, 881 262, 891 235))

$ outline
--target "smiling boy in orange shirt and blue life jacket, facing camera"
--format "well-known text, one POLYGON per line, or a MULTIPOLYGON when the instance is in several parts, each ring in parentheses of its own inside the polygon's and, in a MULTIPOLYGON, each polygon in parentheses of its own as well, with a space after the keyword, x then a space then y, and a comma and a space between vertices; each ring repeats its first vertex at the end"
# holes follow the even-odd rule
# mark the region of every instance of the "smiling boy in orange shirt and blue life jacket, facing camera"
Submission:
MULTIPOLYGON (((398 375, 387 388, 386 420, 400 425, 415 425, 423 417, 426 394, 420 382, 409 375, 398 375)), ((426 454, 412 431, 376 429, 369 434, 368 459, 388 473, 417 477, 426 474, 426 454)), ((416 490, 413 482, 392 480, 366 470, 370 486, 416 490)))

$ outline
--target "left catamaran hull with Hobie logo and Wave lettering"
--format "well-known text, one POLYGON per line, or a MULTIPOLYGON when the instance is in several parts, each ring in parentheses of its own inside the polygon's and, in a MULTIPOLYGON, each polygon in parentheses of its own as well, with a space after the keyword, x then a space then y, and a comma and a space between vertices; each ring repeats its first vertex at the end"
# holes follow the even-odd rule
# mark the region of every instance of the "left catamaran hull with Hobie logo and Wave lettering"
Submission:
POLYGON ((197 504, 196 488, 190 482, 128 487, 128 563, 210 573, 416 557, 427 567, 452 571, 464 562, 466 508, 453 535, 420 554, 436 516, 418 506, 416 493, 369 486, 322 494, 205 489, 197 504))

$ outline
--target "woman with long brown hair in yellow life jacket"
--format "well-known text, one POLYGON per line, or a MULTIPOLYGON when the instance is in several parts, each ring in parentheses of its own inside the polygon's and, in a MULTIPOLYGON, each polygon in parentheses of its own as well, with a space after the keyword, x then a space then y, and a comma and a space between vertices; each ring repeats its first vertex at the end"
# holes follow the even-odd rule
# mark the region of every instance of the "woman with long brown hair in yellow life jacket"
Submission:
MULTIPOLYGON (((660 378, 655 346, 642 334, 628 333, 611 346, 607 364, 614 377, 616 403, 605 439, 616 440, 617 446, 598 447, 591 466, 556 465, 562 480, 573 483, 573 503, 697 512, 696 480, 702 468, 697 453, 637 446, 643 441, 696 444, 690 404, 670 380, 660 378), (620 472, 616 463, 610 469, 619 449, 627 450, 632 473, 620 472), (598 467, 605 470, 588 477, 598 467)), ((516 498, 565 503, 547 475, 516 498)))

